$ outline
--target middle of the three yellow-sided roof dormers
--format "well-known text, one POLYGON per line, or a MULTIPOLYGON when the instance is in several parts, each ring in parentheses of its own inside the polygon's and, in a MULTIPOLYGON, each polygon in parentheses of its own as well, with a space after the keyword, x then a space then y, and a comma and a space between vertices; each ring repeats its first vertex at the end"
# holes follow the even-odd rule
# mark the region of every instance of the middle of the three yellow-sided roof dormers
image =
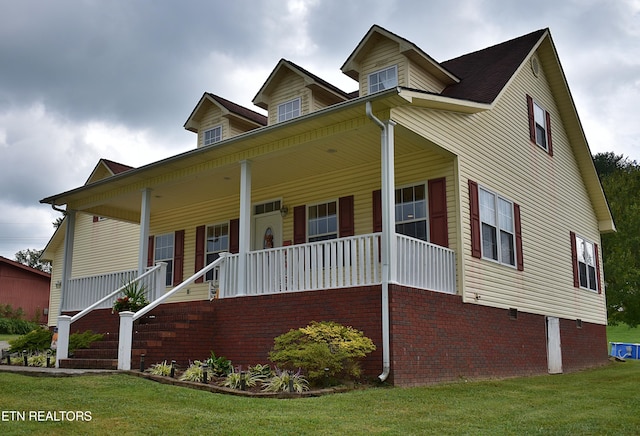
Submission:
POLYGON ((271 125, 349 99, 344 91, 293 62, 280 59, 253 103, 268 111, 271 125))

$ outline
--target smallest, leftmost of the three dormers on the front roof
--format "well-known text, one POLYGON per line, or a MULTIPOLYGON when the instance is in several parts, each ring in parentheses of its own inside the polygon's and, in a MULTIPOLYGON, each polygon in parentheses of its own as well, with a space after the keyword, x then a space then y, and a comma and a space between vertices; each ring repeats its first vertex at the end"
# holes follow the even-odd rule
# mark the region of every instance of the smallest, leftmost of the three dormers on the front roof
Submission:
POLYGON ((213 145, 267 125, 267 117, 205 92, 184 128, 198 134, 198 147, 213 145))

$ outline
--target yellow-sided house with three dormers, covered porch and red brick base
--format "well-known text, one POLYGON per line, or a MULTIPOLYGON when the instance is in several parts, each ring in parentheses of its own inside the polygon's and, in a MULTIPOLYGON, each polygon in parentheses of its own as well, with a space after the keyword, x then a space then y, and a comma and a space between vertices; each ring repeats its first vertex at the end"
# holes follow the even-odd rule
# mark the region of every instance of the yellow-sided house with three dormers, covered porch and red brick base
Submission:
POLYGON ((265 362, 314 320, 362 330, 365 373, 399 386, 606 362, 615 226, 550 31, 438 62, 374 25, 341 69, 357 92, 281 60, 253 100, 266 117, 205 93, 193 150, 41 200, 68 229, 139 224, 155 277, 135 315, 106 298, 71 318, 67 298, 58 324, 114 335, 124 369, 265 362))

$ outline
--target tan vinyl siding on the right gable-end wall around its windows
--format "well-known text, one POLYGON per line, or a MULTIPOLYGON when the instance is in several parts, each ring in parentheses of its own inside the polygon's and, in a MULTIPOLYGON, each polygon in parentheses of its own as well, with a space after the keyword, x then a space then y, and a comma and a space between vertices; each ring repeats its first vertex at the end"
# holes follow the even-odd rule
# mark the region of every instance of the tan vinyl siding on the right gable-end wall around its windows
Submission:
POLYGON ((459 155, 466 302, 605 324, 604 292, 573 287, 569 239, 575 231, 601 247, 596 216, 544 72, 535 78, 527 65, 493 110, 401 108, 393 118, 459 155), (553 157, 529 140, 526 94, 551 114, 553 157), (520 205, 523 272, 471 257, 468 179, 520 205))

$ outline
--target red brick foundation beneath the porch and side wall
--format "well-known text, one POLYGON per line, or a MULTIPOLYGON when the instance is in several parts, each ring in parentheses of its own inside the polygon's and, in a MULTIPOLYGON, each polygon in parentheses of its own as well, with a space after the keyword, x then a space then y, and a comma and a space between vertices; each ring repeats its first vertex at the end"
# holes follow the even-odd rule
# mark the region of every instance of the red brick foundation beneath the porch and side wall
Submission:
MULTIPOLYGON (((350 325, 377 346, 363 361, 365 375, 382 371, 380 286, 332 289, 162 305, 152 311, 201 316, 181 321, 177 337, 147 351, 147 366, 164 359, 186 365, 211 350, 234 365, 267 363, 273 339, 311 321, 350 325)), ((391 285, 391 375, 398 386, 460 378, 512 377, 547 373, 545 317, 462 303, 457 295, 391 285)), ((159 313, 159 312, 158 312, 159 313)), ((158 319, 161 315, 158 314, 158 319)), ((72 332, 117 333, 118 316, 96 310, 71 325, 72 332)), ((560 320, 565 372, 607 362, 606 327, 560 320)), ((134 334, 135 341, 135 334, 134 334)), ((135 347, 135 345, 134 345, 135 347)), ((132 357, 132 366, 138 363, 132 357)))

